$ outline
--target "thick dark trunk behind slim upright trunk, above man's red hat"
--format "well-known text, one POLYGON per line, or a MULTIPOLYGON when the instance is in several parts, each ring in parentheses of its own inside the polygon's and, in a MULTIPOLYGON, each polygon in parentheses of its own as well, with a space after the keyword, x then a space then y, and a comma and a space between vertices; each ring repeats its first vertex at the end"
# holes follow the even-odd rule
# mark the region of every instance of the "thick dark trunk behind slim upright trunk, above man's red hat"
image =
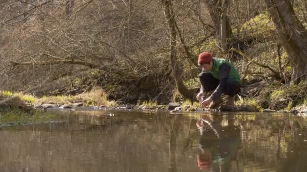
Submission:
MULTIPOLYGON (((218 44, 220 47, 222 47, 222 37, 221 37, 221 17, 222 17, 222 12, 223 12, 223 7, 222 7, 222 0, 205 0, 206 4, 209 7, 209 13, 210 16, 212 18, 212 21, 214 23, 214 27, 216 30, 216 38, 218 40, 218 44)), ((225 0, 228 6, 228 0, 225 0)), ((227 11, 227 6, 226 6, 226 11, 227 11)), ((226 14, 226 12, 225 12, 226 14)), ((227 15, 224 15, 224 17, 226 19, 224 19, 226 21, 226 35, 227 38, 230 37, 230 35, 232 34, 232 30, 231 30, 231 26, 229 23, 229 20, 227 18, 227 15)))

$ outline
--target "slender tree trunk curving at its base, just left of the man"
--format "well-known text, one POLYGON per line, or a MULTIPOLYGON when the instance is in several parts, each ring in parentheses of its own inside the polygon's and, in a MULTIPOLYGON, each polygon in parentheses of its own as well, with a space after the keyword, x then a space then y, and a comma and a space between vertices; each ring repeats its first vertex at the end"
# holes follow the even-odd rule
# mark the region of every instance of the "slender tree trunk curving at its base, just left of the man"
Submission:
POLYGON ((175 26, 175 19, 173 14, 172 2, 169 0, 162 0, 162 4, 164 5, 164 13, 165 18, 167 20, 169 30, 170 30, 170 59, 171 66, 174 73, 175 82, 177 85, 178 92, 185 97, 186 99, 193 100, 193 93, 190 92, 184 85, 182 79, 182 69, 178 66, 177 62, 177 54, 176 54, 176 44, 177 44, 177 33, 175 26))

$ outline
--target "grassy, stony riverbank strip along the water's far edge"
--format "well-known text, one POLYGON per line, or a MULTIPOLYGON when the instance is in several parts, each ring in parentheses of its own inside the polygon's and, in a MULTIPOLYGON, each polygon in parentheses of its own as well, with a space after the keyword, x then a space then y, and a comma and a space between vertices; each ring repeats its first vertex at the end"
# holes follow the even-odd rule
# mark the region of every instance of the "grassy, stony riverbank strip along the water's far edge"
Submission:
MULTIPOLYGON (((211 110, 199 106, 199 102, 189 100, 158 105, 157 101, 144 101, 137 104, 121 104, 119 101, 108 100, 108 94, 101 89, 75 96, 49 96, 35 97, 31 94, 12 93, 1 91, 0 98, 6 101, 2 104, 0 112, 2 123, 26 123, 40 119, 40 115, 47 108, 73 109, 75 107, 90 107, 93 109, 165 109, 171 113, 176 112, 277 112, 292 113, 307 116, 307 83, 286 86, 274 82, 254 82, 242 87, 241 96, 236 96, 235 108, 229 109, 223 104, 211 110), (33 118, 33 119, 32 119, 33 118), (14 123, 14 122, 13 122, 14 123)), ((223 96, 226 102, 227 96, 223 96)))

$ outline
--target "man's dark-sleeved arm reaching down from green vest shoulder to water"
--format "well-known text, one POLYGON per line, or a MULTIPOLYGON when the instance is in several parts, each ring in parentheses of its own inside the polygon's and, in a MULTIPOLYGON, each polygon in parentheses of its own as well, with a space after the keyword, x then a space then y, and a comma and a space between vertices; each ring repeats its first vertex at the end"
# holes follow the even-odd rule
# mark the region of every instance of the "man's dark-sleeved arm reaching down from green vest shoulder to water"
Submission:
POLYGON ((221 95, 223 94, 223 88, 226 88, 226 82, 227 82, 227 78, 228 78, 230 69, 231 69, 231 66, 227 63, 223 63, 219 67, 220 83, 218 87, 215 89, 215 91, 213 92, 213 94, 210 96, 210 98, 215 102, 217 102, 219 98, 221 97, 221 95))

